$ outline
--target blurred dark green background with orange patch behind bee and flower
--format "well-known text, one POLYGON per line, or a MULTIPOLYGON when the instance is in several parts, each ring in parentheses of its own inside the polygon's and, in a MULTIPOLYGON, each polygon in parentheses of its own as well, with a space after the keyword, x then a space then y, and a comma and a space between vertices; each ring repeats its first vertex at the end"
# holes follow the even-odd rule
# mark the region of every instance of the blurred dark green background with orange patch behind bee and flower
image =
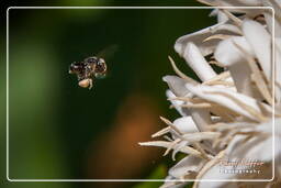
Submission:
MULTIPOLYGON (((194 1, 22 1, 9 5, 201 5, 194 1)), ((210 10, 11 9, 9 143, 11 179, 165 178, 173 164, 138 146, 176 119, 161 77, 173 74, 176 40, 214 23, 210 10), (117 45, 109 75, 92 90, 68 74, 72 62, 117 45)), ((1 27, 4 36, 5 27, 1 27)), ((4 37, 2 37, 4 38, 4 37)), ((4 55, 4 43, 1 44, 4 55)), ((5 180, 5 59, 1 57, 1 187, 158 187, 161 183, 9 183, 5 180)), ((179 156, 180 157, 180 156, 179 156)))

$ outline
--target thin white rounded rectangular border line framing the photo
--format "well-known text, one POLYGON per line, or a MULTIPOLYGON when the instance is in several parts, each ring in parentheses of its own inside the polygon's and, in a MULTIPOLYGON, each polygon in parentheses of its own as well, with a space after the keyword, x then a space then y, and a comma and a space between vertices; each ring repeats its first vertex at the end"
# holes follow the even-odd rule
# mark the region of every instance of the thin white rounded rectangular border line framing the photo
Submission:
POLYGON ((176 183, 189 183, 189 181, 272 181, 274 179, 274 88, 276 88, 276 56, 274 56, 274 18, 276 12, 271 7, 9 7, 7 9, 7 180, 8 181, 26 181, 26 183, 71 183, 71 181, 176 181, 176 183), (12 9, 269 9, 272 11, 272 98, 273 98, 273 114, 272 114, 272 178, 271 179, 11 179, 9 177, 9 11, 12 9))

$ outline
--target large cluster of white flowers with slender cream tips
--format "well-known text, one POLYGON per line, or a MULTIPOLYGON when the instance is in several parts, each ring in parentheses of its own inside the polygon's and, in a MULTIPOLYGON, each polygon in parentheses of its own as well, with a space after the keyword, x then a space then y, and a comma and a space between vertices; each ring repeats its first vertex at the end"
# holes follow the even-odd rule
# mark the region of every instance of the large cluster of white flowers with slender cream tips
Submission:
POLYGON ((276 30, 270 9, 215 9, 211 15, 217 16, 217 24, 178 38, 176 52, 200 81, 182 74, 169 57, 178 76, 164 77, 169 86, 166 95, 182 118, 173 122, 160 118, 168 126, 153 137, 166 141, 139 144, 166 147, 165 155, 172 151, 173 161, 178 152, 187 155, 169 169, 162 188, 194 179, 229 180, 195 181, 193 187, 200 188, 280 187, 281 2, 200 1, 215 7, 270 5, 276 10, 276 30), (224 71, 217 74, 212 66, 224 71), (271 179, 272 169, 273 181, 234 181, 271 179))

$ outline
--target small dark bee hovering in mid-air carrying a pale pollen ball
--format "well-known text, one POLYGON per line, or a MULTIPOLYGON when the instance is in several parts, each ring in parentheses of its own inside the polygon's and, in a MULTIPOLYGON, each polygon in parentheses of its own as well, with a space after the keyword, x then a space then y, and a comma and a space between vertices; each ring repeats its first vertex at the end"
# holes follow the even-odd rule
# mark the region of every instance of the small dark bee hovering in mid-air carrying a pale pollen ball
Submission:
POLYGON ((76 74, 78 78, 78 85, 82 88, 92 88, 93 79, 105 77, 106 64, 103 58, 88 57, 82 62, 72 63, 69 66, 69 74, 76 74))

